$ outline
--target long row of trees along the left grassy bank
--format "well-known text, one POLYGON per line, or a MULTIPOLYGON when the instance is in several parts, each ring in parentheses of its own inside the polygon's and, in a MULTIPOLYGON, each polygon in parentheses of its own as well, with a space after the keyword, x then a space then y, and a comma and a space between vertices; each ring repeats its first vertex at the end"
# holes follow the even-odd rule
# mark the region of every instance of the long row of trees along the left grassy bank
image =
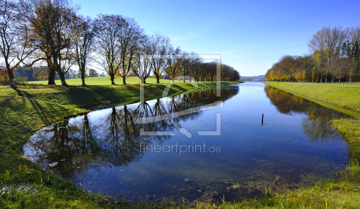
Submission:
POLYGON ((78 14, 79 9, 68 0, 0 1, 0 52, 10 85, 15 85, 13 72, 19 67, 43 70, 38 73, 47 75, 48 84, 55 84, 57 75, 62 85, 66 74, 77 68, 85 85, 91 64, 106 72, 112 84, 118 76, 126 84, 130 73, 143 83, 150 73, 157 83, 163 74, 172 79, 192 76, 197 81, 239 77, 236 70, 223 65, 224 72, 217 78, 216 62, 204 62, 195 52, 181 52, 160 33, 145 34, 134 18, 98 14, 93 19, 78 14))

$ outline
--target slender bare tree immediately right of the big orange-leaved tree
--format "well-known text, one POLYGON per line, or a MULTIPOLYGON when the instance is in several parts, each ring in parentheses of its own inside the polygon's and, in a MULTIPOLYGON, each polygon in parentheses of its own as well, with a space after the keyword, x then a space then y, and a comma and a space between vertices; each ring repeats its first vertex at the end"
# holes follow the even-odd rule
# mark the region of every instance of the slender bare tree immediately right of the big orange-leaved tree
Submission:
POLYGON ((87 16, 79 16, 73 24, 75 43, 73 57, 75 58, 81 74, 82 85, 85 86, 85 66, 89 56, 95 51, 94 20, 87 16))

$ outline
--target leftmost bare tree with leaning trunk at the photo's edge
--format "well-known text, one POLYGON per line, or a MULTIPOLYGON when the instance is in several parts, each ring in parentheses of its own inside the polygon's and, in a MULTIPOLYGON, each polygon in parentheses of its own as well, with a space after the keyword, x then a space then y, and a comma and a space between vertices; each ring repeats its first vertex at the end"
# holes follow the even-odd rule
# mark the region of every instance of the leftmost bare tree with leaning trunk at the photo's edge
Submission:
MULTIPOLYGON (((32 45, 29 25, 23 21, 17 7, 18 4, 15 1, 0 1, 0 52, 5 61, 11 87, 15 87, 14 69, 24 64, 39 49, 32 45)), ((40 59, 32 61, 27 66, 33 65, 38 60, 40 59)))

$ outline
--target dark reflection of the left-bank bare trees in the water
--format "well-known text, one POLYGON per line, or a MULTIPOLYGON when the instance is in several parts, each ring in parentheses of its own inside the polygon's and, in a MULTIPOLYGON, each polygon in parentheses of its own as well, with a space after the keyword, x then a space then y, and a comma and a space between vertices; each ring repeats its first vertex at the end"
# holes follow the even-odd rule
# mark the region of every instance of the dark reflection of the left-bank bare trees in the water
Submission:
MULTIPOLYGON (((237 89, 238 87, 232 87, 237 89)), ((221 89, 225 91, 225 89, 221 89)), ((170 120, 137 124, 137 117, 153 117, 166 114, 166 106, 170 112, 182 111, 191 107, 225 101, 233 97, 237 91, 222 92, 216 97, 216 89, 182 94, 125 105, 102 110, 104 115, 91 116, 91 113, 72 119, 60 121, 52 126, 37 131, 27 152, 33 153, 33 159, 50 164, 60 162, 66 176, 78 171, 77 165, 91 162, 103 162, 105 166, 127 166, 139 161, 143 156, 139 145, 163 144, 171 136, 143 136, 140 128, 151 131, 172 131, 174 126, 170 120), (89 117, 89 119, 88 119, 89 117), (30 151, 31 150, 31 151, 30 151), (111 164, 111 165, 109 165, 111 164)), ((191 112, 176 117, 176 122, 196 119, 202 112, 191 112)), ((85 172, 83 169, 81 172, 85 172)))

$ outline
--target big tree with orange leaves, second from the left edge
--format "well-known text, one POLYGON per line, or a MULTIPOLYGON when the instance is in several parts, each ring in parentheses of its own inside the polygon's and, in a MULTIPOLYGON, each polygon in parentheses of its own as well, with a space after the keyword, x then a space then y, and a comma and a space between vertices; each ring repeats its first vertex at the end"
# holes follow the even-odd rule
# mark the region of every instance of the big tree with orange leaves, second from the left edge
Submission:
POLYGON ((73 22, 80 9, 68 0, 24 0, 21 15, 34 33, 33 45, 41 48, 49 68, 55 69, 62 85, 65 74, 75 63, 71 49, 75 42, 73 22))

